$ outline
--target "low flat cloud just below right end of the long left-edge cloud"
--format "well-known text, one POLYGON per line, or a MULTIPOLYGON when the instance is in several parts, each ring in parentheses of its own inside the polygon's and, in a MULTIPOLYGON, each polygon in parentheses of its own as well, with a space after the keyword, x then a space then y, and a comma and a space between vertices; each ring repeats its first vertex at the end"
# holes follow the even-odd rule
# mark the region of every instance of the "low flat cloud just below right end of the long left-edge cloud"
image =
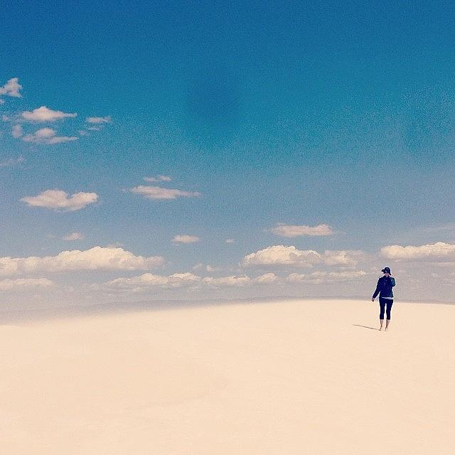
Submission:
POLYGON ((102 287, 111 289, 132 289, 133 291, 141 291, 149 288, 179 288, 189 287, 200 282, 201 277, 192 274, 191 272, 174 273, 171 275, 157 275, 144 273, 139 277, 117 278, 106 282, 102 287))

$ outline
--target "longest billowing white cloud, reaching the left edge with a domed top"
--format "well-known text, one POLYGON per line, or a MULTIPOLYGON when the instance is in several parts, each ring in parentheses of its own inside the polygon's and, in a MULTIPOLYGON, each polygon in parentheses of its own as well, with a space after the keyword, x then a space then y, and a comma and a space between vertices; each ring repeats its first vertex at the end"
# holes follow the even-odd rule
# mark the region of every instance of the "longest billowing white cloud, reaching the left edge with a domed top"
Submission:
POLYGON ((92 247, 56 256, 0 257, 0 276, 74 270, 147 270, 164 263, 161 256, 136 256, 123 248, 92 247))

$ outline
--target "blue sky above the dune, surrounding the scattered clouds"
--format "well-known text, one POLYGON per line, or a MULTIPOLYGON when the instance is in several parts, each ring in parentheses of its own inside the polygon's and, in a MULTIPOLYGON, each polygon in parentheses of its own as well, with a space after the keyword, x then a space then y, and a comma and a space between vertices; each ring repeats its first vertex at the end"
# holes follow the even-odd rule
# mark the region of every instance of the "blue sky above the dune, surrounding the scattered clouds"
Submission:
POLYGON ((4 265, 2 298, 33 292, 48 299, 51 292, 77 301, 82 288, 95 301, 368 295, 389 264, 403 298, 451 299, 453 7, 328 3, 6 6, 0 257, 107 250, 92 252, 95 262, 81 269, 38 264, 6 272, 4 265), (16 77, 22 88, 8 91, 16 77), (33 114, 42 106, 53 119, 33 114), (77 116, 58 119, 55 112, 77 116), (160 175, 171 180, 144 181, 160 175), (139 186, 198 196, 147 199, 131 191, 139 186), (77 210, 21 200, 56 190, 97 199, 77 210), (272 232, 279 223, 299 235, 272 232), (329 226, 327 235, 318 235, 321 225, 329 226), (81 238, 63 240, 73 232, 81 238), (198 239, 176 242, 176 235, 198 239), (273 250, 273 264, 245 266, 245 256, 276 245, 284 250, 273 250), (390 245, 403 250, 381 250, 390 245), (294 260, 288 247, 350 259, 294 260), (114 248, 163 257, 163 264, 97 263, 96 255, 114 248), (121 282, 121 291, 111 283, 174 273, 196 275, 196 287, 149 276, 139 286, 121 282), (292 273, 300 278, 289 279, 292 273), (431 289, 422 273, 431 275, 431 289), (260 285, 226 278, 263 274, 276 278, 267 275, 260 285), (200 284, 210 277, 225 282, 200 284))

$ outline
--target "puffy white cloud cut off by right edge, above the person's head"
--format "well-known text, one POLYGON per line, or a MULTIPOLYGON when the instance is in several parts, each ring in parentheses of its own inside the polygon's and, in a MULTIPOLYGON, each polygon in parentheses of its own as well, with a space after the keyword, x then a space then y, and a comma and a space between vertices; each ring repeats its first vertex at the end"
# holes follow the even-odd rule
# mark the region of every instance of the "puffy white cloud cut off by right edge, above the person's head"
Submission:
POLYGON ((436 242, 429 245, 402 247, 401 245, 389 245, 381 248, 381 255, 395 261, 419 261, 429 260, 454 261, 455 245, 451 243, 436 242))

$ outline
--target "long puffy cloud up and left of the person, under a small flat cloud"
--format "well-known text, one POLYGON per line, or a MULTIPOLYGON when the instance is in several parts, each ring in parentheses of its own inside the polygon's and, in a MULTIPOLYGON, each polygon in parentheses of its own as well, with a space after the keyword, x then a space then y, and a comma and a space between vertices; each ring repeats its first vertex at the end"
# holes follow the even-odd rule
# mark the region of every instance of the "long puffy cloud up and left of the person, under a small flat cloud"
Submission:
POLYGON ((314 264, 340 265, 353 267, 358 262, 360 251, 326 250, 323 254, 314 250, 297 250, 294 246, 273 245, 246 255, 241 264, 252 265, 289 265, 294 267, 312 267, 314 264))

